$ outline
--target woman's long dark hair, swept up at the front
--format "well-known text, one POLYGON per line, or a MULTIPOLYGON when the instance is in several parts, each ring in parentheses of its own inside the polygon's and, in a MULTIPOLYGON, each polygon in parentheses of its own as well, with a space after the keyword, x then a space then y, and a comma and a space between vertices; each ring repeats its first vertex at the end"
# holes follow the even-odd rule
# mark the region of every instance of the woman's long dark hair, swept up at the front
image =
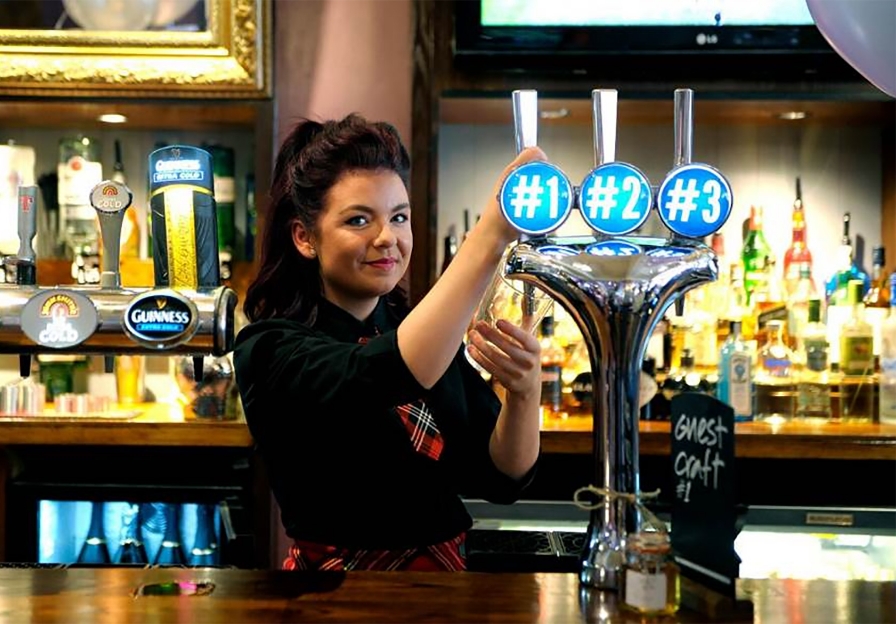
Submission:
MULTIPOLYGON (((303 119, 283 141, 274 165, 258 276, 243 304, 250 321, 314 322, 322 292, 320 270, 317 260, 295 248, 292 225, 298 221, 314 231, 327 193, 340 176, 359 169, 394 171, 408 187, 410 157, 392 125, 354 113, 323 123, 303 119)), ((405 301, 400 288, 389 298, 405 301)))

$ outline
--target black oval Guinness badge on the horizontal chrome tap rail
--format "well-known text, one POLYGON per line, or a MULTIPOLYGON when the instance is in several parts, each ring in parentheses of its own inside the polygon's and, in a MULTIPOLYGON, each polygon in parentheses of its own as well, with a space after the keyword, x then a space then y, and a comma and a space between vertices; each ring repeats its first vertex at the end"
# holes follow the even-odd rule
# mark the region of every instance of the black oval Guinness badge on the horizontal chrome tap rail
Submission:
POLYGON ((147 347, 165 349, 187 342, 196 333, 199 312, 192 301, 174 290, 150 290, 137 295, 124 314, 128 335, 147 347))

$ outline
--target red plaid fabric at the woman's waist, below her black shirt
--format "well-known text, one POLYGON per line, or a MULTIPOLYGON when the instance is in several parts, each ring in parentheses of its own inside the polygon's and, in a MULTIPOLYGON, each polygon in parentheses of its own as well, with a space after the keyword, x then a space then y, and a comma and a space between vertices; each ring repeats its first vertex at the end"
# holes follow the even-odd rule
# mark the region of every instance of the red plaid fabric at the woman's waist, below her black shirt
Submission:
POLYGON ((296 540, 283 561, 284 570, 409 570, 414 572, 459 572, 467 569, 460 554, 466 538, 461 533, 452 540, 407 550, 364 550, 338 548, 296 540))

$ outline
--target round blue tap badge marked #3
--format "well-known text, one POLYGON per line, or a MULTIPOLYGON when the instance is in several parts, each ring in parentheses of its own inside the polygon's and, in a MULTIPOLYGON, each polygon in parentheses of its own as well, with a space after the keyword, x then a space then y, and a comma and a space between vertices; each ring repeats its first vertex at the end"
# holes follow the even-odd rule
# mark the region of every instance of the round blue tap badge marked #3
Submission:
POLYGON ((660 219, 666 227, 691 238, 717 232, 731 216, 733 204, 725 176, 702 163, 673 169, 657 193, 660 219))

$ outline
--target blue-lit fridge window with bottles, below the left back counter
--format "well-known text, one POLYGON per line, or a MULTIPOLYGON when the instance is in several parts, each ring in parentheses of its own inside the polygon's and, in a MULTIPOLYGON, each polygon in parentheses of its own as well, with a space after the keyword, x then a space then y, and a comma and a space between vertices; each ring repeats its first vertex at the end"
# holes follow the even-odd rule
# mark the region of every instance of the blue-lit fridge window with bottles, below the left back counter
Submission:
POLYGON ((42 500, 38 510, 39 563, 222 564, 218 505, 42 500))

